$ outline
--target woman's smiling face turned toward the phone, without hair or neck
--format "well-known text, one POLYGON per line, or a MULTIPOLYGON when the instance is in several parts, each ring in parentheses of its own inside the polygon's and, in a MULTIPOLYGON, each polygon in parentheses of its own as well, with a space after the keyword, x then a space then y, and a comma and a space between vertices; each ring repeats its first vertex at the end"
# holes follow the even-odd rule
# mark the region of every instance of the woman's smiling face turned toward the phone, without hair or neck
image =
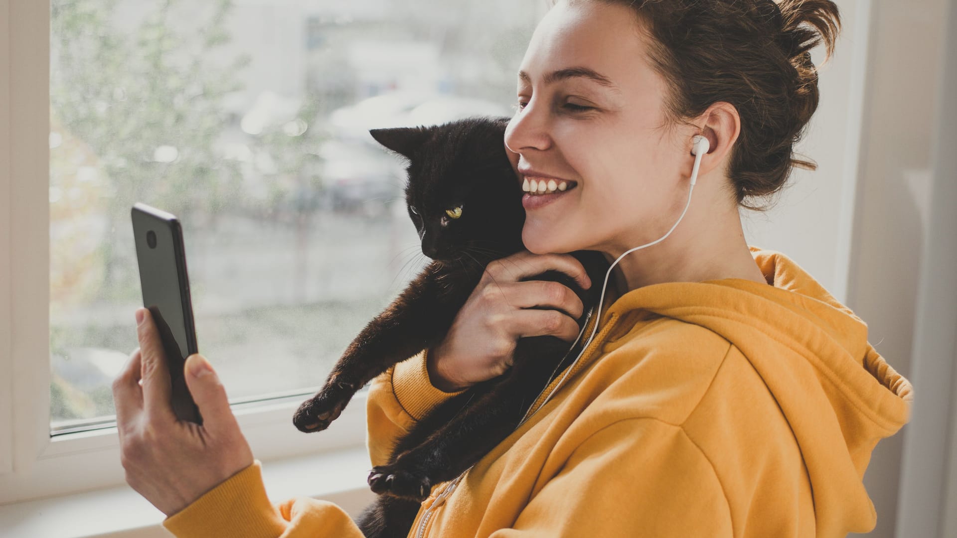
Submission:
POLYGON ((617 256, 664 235, 684 207, 695 133, 665 127, 665 83, 646 39, 629 8, 592 1, 558 4, 532 36, 505 145, 523 179, 577 183, 526 206, 532 253, 617 256))

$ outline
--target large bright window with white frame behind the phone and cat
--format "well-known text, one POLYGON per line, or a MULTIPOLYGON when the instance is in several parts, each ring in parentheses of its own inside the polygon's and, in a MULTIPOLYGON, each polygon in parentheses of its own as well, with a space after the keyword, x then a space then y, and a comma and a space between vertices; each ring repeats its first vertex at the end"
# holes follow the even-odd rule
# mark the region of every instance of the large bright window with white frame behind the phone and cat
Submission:
POLYGON ((424 261, 367 129, 509 114, 545 8, 0 0, 0 503, 122 483, 137 201, 184 224, 199 347, 257 458, 361 445, 359 402, 340 435, 291 416, 424 261))

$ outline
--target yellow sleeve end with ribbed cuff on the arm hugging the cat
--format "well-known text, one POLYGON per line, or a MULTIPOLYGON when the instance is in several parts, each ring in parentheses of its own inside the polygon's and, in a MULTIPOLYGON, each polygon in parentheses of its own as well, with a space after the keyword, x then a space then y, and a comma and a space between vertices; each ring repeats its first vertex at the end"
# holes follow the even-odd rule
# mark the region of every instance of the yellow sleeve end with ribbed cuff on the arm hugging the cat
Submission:
POLYGON ((372 465, 389 460, 394 441, 409 432, 439 403, 460 394, 436 389, 429 380, 428 349, 406 359, 372 380, 366 404, 368 455, 372 465))

